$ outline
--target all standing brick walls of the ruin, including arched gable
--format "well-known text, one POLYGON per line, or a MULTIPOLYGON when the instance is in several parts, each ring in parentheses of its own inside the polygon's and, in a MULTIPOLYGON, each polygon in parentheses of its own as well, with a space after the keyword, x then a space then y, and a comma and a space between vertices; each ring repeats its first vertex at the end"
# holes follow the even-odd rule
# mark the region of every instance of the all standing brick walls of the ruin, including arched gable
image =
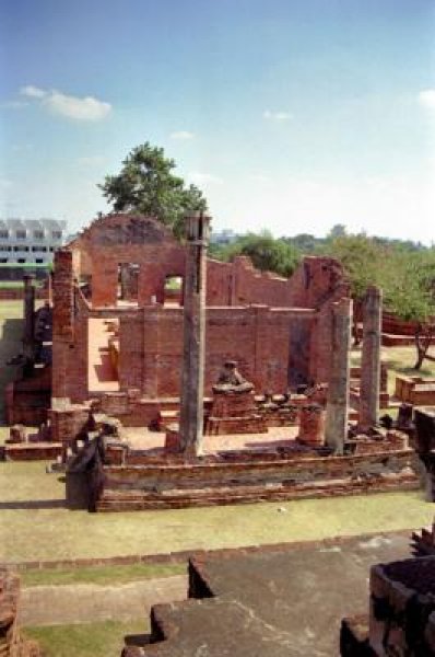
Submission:
MULTIPOLYGON (((56 254, 52 396, 89 399, 89 319, 119 320, 120 390, 177 396, 183 309, 163 307, 167 277, 184 275, 185 250, 153 219, 97 219, 56 254), (117 304, 119 265, 137 263, 138 307, 117 304), (77 281, 91 280, 91 300, 77 281), (75 279, 75 281, 74 281, 75 279), (155 303, 156 301, 156 303, 155 303)), ((307 257, 290 279, 257 272, 249 258, 208 261, 205 391, 222 362, 235 359, 258 391, 327 381, 330 303, 348 292, 340 265, 307 257)), ((183 297, 183 293, 181 293, 183 297)))

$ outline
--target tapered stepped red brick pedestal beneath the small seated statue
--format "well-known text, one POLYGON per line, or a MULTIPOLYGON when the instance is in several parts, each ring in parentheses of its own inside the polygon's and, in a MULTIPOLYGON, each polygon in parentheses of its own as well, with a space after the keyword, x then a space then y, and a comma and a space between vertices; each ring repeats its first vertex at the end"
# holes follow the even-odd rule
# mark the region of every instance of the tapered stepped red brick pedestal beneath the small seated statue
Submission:
POLYGON ((257 413, 254 391, 214 393, 205 427, 208 435, 262 434, 266 431, 267 424, 257 413))

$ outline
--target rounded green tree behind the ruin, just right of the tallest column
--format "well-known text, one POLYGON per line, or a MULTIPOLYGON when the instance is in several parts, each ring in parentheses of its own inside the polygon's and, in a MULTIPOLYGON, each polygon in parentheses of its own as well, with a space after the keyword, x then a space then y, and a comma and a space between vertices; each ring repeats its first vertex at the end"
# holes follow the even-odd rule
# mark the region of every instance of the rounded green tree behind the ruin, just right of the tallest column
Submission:
POLYGON ((301 254, 294 246, 282 239, 275 240, 266 230, 259 234, 242 235, 215 255, 224 261, 233 260, 236 255, 248 255, 257 269, 274 272, 284 277, 293 274, 301 260, 301 254))

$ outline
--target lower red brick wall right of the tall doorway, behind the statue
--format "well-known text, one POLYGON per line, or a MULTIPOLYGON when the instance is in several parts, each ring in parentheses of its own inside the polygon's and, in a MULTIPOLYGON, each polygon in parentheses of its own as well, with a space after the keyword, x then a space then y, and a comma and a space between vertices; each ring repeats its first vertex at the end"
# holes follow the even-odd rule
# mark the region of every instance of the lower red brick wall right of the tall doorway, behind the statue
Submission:
MULTIPOLYGON (((308 373, 310 311, 250 308, 209 308, 205 331, 205 392, 216 381, 224 360, 238 361, 242 373, 259 391, 284 391, 289 365, 308 373), (305 358, 297 360, 298 342, 306 336, 305 358), (293 360, 290 345, 295 353, 293 360)), ((178 396, 183 350, 183 309, 148 308, 120 318, 119 379, 121 390, 139 388, 146 396, 178 396)), ((314 369, 316 369, 314 367, 314 369)))

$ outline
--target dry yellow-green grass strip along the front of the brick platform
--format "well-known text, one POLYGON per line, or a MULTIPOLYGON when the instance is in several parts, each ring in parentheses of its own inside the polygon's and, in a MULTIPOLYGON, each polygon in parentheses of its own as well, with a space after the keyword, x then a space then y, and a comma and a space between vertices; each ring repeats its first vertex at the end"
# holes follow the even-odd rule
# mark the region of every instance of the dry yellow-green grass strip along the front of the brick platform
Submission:
POLYGON ((0 463, 0 561, 158 554, 408 530, 431 525, 434 512, 420 492, 121 514, 70 511, 58 506, 62 499, 63 484, 59 475, 46 474, 45 463, 0 463))

